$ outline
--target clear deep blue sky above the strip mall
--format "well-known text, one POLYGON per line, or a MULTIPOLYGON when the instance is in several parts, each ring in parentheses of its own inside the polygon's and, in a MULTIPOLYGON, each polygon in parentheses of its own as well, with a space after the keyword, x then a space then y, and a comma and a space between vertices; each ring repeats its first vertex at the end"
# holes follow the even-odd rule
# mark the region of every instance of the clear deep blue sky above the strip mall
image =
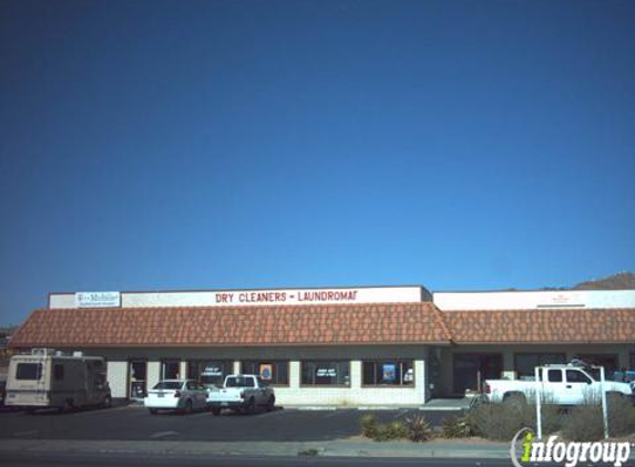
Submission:
POLYGON ((3 1, 0 323, 50 291, 635 270, 633 1, 3 1))

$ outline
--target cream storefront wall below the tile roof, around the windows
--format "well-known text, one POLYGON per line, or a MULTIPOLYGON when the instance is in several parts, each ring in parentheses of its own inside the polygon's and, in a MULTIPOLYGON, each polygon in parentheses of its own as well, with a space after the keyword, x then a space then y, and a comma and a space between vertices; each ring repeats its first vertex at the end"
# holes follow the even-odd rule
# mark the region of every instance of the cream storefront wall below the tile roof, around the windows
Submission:
POLYGON ((503 357, 503 374, 511 377, 514 371, 515 353, 564 353, 570 360, 576 354, 615 354, 618 365, 627 367, 629 355, 635 354, 633 345, 366 345, 366 346, 286 346, 286 347, 209 347, 209 349, 84 349, 88 355, 102 355, 109 360, 109 381, 115 397, 127 394, 127 361, 147 361, 147 385, 152 387, 160 378, 163 359, 231 360, 234 372, 240 370, 242 360, 288 360, 289 385, 276 387, 281 405, 420 405, 434 396, 449 396, 453 388, 453 355, 457 353, 500 353, 503 357), (300 362, 303 360, 350 361, 350 386, 301 386, 300 362), (413 387, 362 387, 361 367, 365 360, 409 359, 414 361, 413 387), (437 373, 431 361, 438 360, 437 373))

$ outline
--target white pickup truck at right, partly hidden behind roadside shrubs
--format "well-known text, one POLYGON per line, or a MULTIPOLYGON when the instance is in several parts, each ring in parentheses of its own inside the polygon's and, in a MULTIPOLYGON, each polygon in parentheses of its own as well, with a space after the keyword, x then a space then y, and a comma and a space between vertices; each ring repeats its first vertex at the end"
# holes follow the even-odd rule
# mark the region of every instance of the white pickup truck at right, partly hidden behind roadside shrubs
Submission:
MULTIPOLYGON (((598 401, 602 382, 592 376, 592 371, 571 364, 539 367, 539 381, 487 380, 485 396, 490 402, 534 401, 540 392, 541 401, 556 405, 578 405, 590 399, 598 401)), ((633 397, 627 383, 605 381, 608 397, 633 397)))

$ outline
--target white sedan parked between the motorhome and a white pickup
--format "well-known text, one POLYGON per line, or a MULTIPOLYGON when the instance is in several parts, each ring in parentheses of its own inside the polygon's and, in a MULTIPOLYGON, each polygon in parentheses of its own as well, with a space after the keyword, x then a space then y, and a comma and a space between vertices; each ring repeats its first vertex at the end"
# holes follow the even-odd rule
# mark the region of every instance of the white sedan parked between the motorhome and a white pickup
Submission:
POLYGON ((143 405, 151 414, 160 409, 191 413, 207 408, 207 388, 194 380, 163 380, 147 392, 143 405))

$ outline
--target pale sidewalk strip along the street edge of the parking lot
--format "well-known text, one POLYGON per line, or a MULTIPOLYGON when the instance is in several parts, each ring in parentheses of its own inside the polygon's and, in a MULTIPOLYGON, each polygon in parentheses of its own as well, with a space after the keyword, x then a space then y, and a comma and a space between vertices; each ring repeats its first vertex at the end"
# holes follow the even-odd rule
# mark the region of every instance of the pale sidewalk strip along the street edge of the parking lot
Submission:
POLYGON ((370 440, 332 442, 117 442, 2 439, 0 453, 92 453, 180 456, 329 456, 329 457, 452 457, 509 458, 509 443, 376 443, 370 440))

